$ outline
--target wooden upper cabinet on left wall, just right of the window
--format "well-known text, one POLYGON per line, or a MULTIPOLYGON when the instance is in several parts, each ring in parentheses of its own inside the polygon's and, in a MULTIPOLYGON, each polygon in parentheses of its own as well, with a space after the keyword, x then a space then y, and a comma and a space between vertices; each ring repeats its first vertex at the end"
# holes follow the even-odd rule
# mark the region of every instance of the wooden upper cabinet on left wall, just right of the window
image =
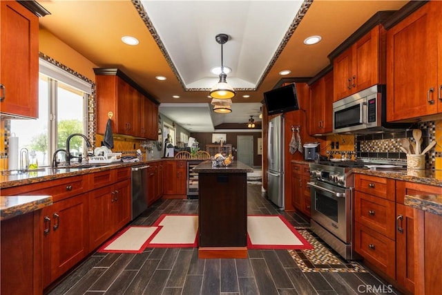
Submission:
POLYGON ((104 134, 113 112, 113 133, 157 140, 158 106, 117 69, 95 68, 97 133, 104 134), (119 76, 122 77, 119 77, 119 76), (125 77, 125 78, 124 78, 125 77))

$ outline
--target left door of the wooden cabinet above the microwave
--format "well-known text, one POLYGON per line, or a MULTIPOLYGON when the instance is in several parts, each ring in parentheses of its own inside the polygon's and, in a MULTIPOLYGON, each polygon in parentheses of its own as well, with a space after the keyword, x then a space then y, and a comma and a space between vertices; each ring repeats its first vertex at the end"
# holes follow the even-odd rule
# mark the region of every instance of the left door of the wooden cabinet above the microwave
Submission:
POLYGON ((352 47, 345 50, 333 61, 334 99, 336 102, 352 92, 352 47))

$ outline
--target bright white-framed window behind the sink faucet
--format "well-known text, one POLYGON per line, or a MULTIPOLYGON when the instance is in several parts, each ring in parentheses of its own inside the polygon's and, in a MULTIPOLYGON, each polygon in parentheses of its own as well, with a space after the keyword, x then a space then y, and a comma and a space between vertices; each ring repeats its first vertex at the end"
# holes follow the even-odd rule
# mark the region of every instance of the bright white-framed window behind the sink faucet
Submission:
MULTIPOLYGON (((28 149, 30 160, 39 166, 49 166, 57 149, 66 149, 66 139, 72 133, 87 133, 87 102, 91 85, 70 73, 40 59, 39 118, 11 120, 11 134, 19 137, 19 150, 28 149)), ((70 140, 74 156, 86 152, 83 138, 70 140)), ((64 153, 58 159, 66 160, 64 153)), ((19 165, 20 166, 20 165, 19 165)))

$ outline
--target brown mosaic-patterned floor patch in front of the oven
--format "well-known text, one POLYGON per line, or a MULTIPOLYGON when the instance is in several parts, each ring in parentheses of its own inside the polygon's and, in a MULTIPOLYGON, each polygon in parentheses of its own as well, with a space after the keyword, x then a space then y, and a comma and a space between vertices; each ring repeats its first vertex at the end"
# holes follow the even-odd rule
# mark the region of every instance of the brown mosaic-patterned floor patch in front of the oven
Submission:
POLYGON ((313 249, 288 250, 302 272, 367 272, 356 260, 345 260, 307 227, 298 232, 313 249))

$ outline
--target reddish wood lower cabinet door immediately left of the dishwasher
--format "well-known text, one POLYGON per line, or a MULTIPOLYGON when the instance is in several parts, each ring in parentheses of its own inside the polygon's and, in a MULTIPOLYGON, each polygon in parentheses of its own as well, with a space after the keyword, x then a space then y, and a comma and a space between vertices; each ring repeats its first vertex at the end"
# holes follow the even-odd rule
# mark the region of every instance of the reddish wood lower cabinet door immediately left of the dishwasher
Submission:
POLYGON ((113 195, 111 203, 115 217, 113 221, 115 225, 113 232, 115 232, 131 221, 131 182, 129 180, 117 182, 111 195, 113 195))

